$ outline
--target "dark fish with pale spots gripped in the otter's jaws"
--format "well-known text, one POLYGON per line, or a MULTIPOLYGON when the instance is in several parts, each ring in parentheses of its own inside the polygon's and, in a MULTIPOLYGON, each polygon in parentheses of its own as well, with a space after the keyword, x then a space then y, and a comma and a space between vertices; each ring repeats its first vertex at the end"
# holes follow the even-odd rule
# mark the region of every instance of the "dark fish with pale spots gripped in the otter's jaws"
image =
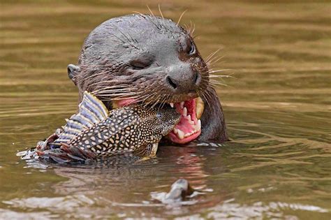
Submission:
POLYGON ((22 159, 54 163, 84 163, 133 153, 154 157, 161 138, 179 122, 180 114, 169 105, 128 105, 108 111, 96 96, 84 91, 78 113, 66 119, 63 131, 50 136, 44 149, 20 152, 22 159))

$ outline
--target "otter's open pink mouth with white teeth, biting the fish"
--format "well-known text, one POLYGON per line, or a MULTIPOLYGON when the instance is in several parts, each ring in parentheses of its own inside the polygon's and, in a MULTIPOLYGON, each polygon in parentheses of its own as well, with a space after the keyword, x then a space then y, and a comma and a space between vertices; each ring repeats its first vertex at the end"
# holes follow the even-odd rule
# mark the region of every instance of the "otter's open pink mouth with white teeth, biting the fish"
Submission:
MULTIPOLYGON (((122 107, 132 103, 135 103, 134 99, 124 99, 116 101, 114 107, 122 107)), ((180 114, 179 122, 167 135, 168 139, 177 144, 186 144, 192 140, 196 140, 201 133, 200 118, 205 108, 203 100, 198 97, 179 103, 168 104, 180 114)))

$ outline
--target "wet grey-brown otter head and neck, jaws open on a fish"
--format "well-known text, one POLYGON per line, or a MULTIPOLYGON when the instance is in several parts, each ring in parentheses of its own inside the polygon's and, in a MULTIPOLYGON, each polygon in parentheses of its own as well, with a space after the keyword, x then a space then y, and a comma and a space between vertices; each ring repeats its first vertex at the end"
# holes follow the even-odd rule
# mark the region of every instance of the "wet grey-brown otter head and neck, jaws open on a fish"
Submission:
POLYGON ((227 139, 207 65, 190 34, 171 20, 126 15, 103 22, 84 41, 78 66, 69 65, 68 75, 80 99, 90 91, 109 109, 131 103, 176 108, 182 117, 168 135, 172 142, 199 135, 227 139))

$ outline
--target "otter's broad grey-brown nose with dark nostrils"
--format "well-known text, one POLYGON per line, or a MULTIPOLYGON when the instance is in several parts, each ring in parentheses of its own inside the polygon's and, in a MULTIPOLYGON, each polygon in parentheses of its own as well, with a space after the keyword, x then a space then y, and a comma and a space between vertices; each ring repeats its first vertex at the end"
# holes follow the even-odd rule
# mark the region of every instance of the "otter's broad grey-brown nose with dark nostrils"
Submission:
POLYGON ((175 93, 195 93, 200 86, 201 75, 189 64, 170 66, 167 72, 165 82, 175 93))

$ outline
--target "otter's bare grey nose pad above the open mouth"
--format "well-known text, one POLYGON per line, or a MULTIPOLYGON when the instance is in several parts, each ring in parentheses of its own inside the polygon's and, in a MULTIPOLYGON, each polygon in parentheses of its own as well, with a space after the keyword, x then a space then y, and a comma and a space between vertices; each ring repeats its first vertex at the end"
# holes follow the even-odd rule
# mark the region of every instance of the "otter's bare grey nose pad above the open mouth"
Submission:
POLYGON ((172 68, 165 78, 168 86, 176 91, 193 91, 200 83, 200 73, 191 68, 172 68))

